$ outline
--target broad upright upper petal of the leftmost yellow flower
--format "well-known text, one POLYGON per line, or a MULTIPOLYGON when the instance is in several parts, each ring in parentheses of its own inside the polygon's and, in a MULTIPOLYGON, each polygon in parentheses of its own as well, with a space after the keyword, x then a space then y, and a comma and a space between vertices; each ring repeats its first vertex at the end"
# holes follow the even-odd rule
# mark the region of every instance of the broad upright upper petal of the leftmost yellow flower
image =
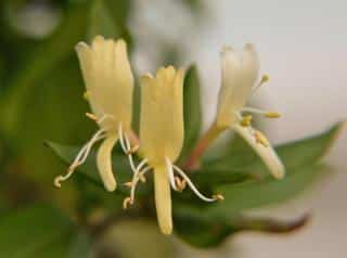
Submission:
POLYGON ((130 127, 133 76, 126 42, 97 36, 91 43, 76 47, 93 113, 107 117, 102 127, 115 132, 121 122, 130 127))

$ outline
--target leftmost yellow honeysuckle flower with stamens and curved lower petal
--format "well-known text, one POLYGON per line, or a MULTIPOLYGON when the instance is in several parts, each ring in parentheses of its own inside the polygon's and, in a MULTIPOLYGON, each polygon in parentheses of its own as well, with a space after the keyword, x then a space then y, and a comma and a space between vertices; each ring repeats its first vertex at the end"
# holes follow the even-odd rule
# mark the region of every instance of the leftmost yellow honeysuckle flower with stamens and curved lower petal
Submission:
MULTIPOLYGON (((75 169, 85 163, 91 147, 103 140, 97 153, 97 166, 107 191, 116 189, 112 170, 112 150, 119 140, 121 147, 130 155, 131 114, 133 77, 123 39, 114 41, 97 36, 91 46, 79 42, 76 46, 80 68, 92 113, 99 130, 83 145, 65 176, 55 178, 55 185, 69 178, 75 169)), ((131 159, 131 158, 130 158, 131 159)))

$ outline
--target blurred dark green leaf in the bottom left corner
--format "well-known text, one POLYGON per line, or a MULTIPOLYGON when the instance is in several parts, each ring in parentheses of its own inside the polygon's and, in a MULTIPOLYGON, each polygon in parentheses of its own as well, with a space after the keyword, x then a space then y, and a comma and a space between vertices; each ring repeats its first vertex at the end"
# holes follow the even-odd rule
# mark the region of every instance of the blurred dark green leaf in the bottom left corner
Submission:
POLYGON ((82 258, 70 256, 77 236, 77 227, 59 210, 35 206, 0 218, 0 257, 82 258))

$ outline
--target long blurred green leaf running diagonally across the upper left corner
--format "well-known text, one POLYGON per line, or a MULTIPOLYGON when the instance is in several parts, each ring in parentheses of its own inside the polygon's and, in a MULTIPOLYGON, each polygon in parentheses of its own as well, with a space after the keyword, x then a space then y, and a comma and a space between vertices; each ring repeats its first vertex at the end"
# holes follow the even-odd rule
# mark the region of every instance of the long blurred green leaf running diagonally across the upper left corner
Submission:
POLYGON ((80 3, 72 8, 56 31, 37 46, 22 65, 22 68, 10 79, 7 91, 0 100, 1 130, 12 136, 18 128, 18 121, 25 116, 26 101, 39 82, 56 65, 73 54, 76 42, 86 35, 86 20, 89 4, 80 3))

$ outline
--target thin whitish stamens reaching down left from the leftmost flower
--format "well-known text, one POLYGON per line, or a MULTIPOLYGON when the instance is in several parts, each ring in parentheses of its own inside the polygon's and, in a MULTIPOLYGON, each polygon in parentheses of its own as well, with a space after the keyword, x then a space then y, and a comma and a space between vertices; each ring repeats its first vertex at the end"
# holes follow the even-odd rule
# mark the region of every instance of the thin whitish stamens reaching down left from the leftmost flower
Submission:
POLYGON ((61 182, 67 180, 74 173, 76 168, 86 162, 92 146, 98 141, 105 138, 105 134, 103 134, 104 132, 105 131, 103 129, 100 129, 99 131, 97 131, 95 134, 79 151, 79 153, 75 157, 74 162, 72 163, 72 165, 67 169, 67 173, 65 176, 61 175, 61 176, 55 177, 54 185, 56 188, 61 188, 62 186, 61 182))

